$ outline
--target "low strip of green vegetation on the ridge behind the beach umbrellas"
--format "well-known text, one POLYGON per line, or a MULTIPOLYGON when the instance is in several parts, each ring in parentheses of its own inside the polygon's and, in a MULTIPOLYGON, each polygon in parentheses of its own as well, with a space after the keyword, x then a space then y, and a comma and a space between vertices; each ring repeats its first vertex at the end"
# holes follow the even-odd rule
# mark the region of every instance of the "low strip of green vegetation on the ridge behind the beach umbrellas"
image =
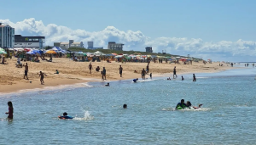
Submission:
MULTIPOLYGON (((173 54, 163 54, 163 53, 146 53, 146 52, 139 52, 139 51, 117 51, 117 50, 110 50, 110 49, 95 49, 95 50, 91 50, 91 49, 85 49, 82 47, 70 47, 68 49, 68 51, 72 51, 72 52, 83 52, 83 53, 95 53, 96 51, 100 51, 102 53, 105 54, 111 54, 111 53, 117 53, 117 54, 138 54, 140 53, 141 55, 155 55, 155 56, 164 56, 164 57, 181 57, 181 58, 186 58, 185 56, 180 56, 180 55, 173 55, 173 54)), ((193 58, 193 59, 197 59, 197 58, 193 58)), ((201 59, 198 59, 201 60, 201 59)))

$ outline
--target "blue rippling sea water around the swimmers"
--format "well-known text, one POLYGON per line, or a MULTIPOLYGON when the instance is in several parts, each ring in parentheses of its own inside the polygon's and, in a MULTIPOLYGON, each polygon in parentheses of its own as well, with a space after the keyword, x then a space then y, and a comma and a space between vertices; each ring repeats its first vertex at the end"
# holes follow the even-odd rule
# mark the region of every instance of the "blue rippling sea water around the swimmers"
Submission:
POLYGON ((184 81, 177 74, 171 81, 91 82, 5 94, 0 144, 255 144, 255 74, 256 69, 227 70, 195 74, 196 82, 191 74, 184 81), (175 110, 181 99, 202 108, 175 110), (8 101, 14 120, 4 114, 8 101), (58 119, 63 112, 74 119, 58 119))

